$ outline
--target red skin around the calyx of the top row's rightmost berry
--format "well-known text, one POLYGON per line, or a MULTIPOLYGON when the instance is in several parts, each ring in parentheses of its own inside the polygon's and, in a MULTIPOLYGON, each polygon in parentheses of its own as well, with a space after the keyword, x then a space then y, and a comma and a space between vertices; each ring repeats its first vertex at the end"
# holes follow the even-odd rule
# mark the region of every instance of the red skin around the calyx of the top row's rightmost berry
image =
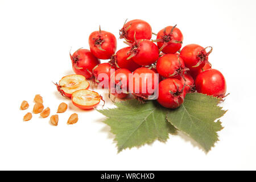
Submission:
MULTIPOLYGON (((166 34, 170 34, 173 26, 166 27, 166 34)), ((158 35, 156 36, 156 39, 161 39, 162 36, 164 36, 164 28, 158 32, 158 35)), ((179 28, 174 28, 174 31, 172 32, 172 40, 177 41, 183 41, 183 34, 179 30, 179 28)), ((158 42, 158 48, 160 49, 163 46, 163 42, 158 42)), ((168 42, 167 46, 163 48, 163 53, 176 53, 181 48, 181 43, 171 43, 168 42)))

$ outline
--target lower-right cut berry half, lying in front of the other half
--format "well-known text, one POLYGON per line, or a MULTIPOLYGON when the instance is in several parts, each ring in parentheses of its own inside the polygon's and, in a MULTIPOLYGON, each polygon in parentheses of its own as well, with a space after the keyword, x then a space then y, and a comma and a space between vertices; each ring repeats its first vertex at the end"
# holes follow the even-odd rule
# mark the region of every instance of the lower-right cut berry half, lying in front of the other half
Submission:
MULTIPOLYGON (((80 109, 93 109, 102 100, 102 96, 97 92, 91 90, 77 90, 72 94, 73 105, 79 107, 80 109)), ((102 100, 104 101, 104 100, 102 100)), ((105 104, 105 101, 104 101, 105 104)))

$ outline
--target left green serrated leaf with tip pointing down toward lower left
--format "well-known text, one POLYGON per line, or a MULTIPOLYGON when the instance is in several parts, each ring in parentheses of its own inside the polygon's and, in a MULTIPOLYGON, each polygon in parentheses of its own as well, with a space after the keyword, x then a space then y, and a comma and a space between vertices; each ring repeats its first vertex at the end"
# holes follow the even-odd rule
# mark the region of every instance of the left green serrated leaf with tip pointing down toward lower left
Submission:
POLYGON ((176 129, 166 121, 166 109, 156 101, 139 104, 137 100, 115 103, 117 108, 98 110, 108 117, 104 122, 115 134, 118 152, 125 148, 139 147, 156 139, 165 142, 168 134, 175 134, 176 129))

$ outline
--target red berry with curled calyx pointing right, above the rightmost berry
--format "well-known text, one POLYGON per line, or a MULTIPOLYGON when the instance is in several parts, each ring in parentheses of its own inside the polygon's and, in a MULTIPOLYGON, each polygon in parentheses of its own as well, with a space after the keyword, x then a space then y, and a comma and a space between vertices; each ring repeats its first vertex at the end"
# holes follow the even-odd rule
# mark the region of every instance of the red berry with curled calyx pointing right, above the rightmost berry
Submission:
POLYGON ((209 47, 209 52, 205 51, 207 48, 203 48, 197 44, 189 44, 181 50, 180 57, 183 59, 187 68, 191 71, 198 71, 204 67, 205 63, 209 63, 208 56, 212 52, 212 47, 209 47))

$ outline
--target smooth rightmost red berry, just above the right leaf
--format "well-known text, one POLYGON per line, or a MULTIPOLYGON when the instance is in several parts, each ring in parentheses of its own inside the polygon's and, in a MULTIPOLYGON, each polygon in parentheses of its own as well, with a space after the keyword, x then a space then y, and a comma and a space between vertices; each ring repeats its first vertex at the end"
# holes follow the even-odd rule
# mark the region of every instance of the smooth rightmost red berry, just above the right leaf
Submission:
POLYGON ((226 94, 226 81, 217 69, 207 69, 196 77, 196 90, 208 96, 224 97, 226 94))

